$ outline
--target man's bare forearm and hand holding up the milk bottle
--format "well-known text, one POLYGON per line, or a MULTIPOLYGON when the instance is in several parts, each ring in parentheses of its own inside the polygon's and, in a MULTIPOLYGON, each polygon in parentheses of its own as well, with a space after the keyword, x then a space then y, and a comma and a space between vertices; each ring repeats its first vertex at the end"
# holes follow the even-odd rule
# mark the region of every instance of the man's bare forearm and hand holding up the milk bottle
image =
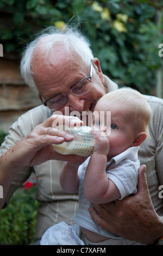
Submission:
MULTIPOLYGON (((62 142, 73 140, 73 136, 66 131, 57 129, 59 121, 71 127, 83 124, 76 117, 52 115, 44 123, 37 125, 29 135, 2 154, 0 157, 0 184, 4 188, 4 199, 12 180, 21 169, 41 164, 48 160, 77 162, 75 155, 61 155, 53 148, 52 144, 61 144, 62 142)), ((0 209, 3 204, 4 200, 1 200, 0 209)))

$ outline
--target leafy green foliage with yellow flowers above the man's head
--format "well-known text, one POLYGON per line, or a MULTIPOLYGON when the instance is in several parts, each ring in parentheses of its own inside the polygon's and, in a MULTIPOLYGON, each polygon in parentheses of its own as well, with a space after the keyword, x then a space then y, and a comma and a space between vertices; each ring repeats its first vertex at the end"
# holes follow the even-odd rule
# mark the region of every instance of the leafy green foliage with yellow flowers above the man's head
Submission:
POLYGON ((54 25, 63 29, 67 22, 80 23, 104 74, 149 94, 156 70, 163 65, 158 55, 162 21, 156 24, 156 12, 162 11, 162 5, 162 1, 151 0, 2 0, 0 7, 11 26, 1 28, 1 43, 5 51, 20 54, 42 28, 54 25))

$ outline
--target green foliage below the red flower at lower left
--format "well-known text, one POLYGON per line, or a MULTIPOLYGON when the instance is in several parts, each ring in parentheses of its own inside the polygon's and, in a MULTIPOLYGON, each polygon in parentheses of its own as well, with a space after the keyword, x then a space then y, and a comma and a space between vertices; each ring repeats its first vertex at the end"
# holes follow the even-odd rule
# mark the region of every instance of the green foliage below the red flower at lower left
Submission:
POLYGON ((17 190, 7 208, 0 211, 0 243, 29 245, 34 241, 38 206, 35 193, 36 187, 17 190))

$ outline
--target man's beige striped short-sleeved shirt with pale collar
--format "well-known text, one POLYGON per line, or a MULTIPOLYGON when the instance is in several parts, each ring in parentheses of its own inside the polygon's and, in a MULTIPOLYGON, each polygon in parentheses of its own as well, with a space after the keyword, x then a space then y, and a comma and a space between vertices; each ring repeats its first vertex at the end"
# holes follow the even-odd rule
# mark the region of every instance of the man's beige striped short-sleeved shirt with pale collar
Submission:
MULTIPOLYGON (((108 77, 104 76, 104 78, 106 90, 110 92, 110 90, 117 89, 117 85, 112 83, 108 77)), ((152 120, 149 127, 151 140, 146 140, 141 145, 139 160, 141 164, 145 163, 147 166, 146 175, 152 201, 156 212, 163 216, 163 199, 158 197, 159 185, 163 185, 163 101, 152 96, 147 96, 147 99, 152 108, 152 120)), ((0 156, 51 115, 52 111, 41 105, 18 118, 10 127, 9 135, 0 148, 0 156)), ((36 199, 40 203, 37 214, 36 239, 41 239, 43 233, 56 223, 64 221, 67 224, 72 224, 73 217, 78 210, 78 194, 67 194, 60 187, 59 175, 63 164, 64 162, 51 160, 39 166, 24 168, 10 186, 6 198, 7 203, 16 188, 21 186, 32 172, 36 175, 36 199)))

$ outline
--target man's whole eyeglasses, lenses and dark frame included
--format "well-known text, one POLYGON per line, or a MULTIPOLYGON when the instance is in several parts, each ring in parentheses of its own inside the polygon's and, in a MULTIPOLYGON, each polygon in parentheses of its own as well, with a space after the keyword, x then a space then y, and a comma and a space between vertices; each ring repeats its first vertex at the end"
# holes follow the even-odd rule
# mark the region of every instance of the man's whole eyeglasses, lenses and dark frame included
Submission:
POLYGON ((82 78, 79 82, 74 84, 70 88, 70 92, 68 93, 58 93, 57 95, 51 97, 50 99, 43 101, 42 97, 40 95, 40 99, 44 106, 47 106, 48 108, 52 109, 53 111, 56 111, 59 108, 62 108, 67 103, 67 95, 73 94, 76 96, 82 96, 84 94, 87 94, 92 89, 92 60, 91 60, 91 66, 90 66, 90 75, 87 77, 82 78))

